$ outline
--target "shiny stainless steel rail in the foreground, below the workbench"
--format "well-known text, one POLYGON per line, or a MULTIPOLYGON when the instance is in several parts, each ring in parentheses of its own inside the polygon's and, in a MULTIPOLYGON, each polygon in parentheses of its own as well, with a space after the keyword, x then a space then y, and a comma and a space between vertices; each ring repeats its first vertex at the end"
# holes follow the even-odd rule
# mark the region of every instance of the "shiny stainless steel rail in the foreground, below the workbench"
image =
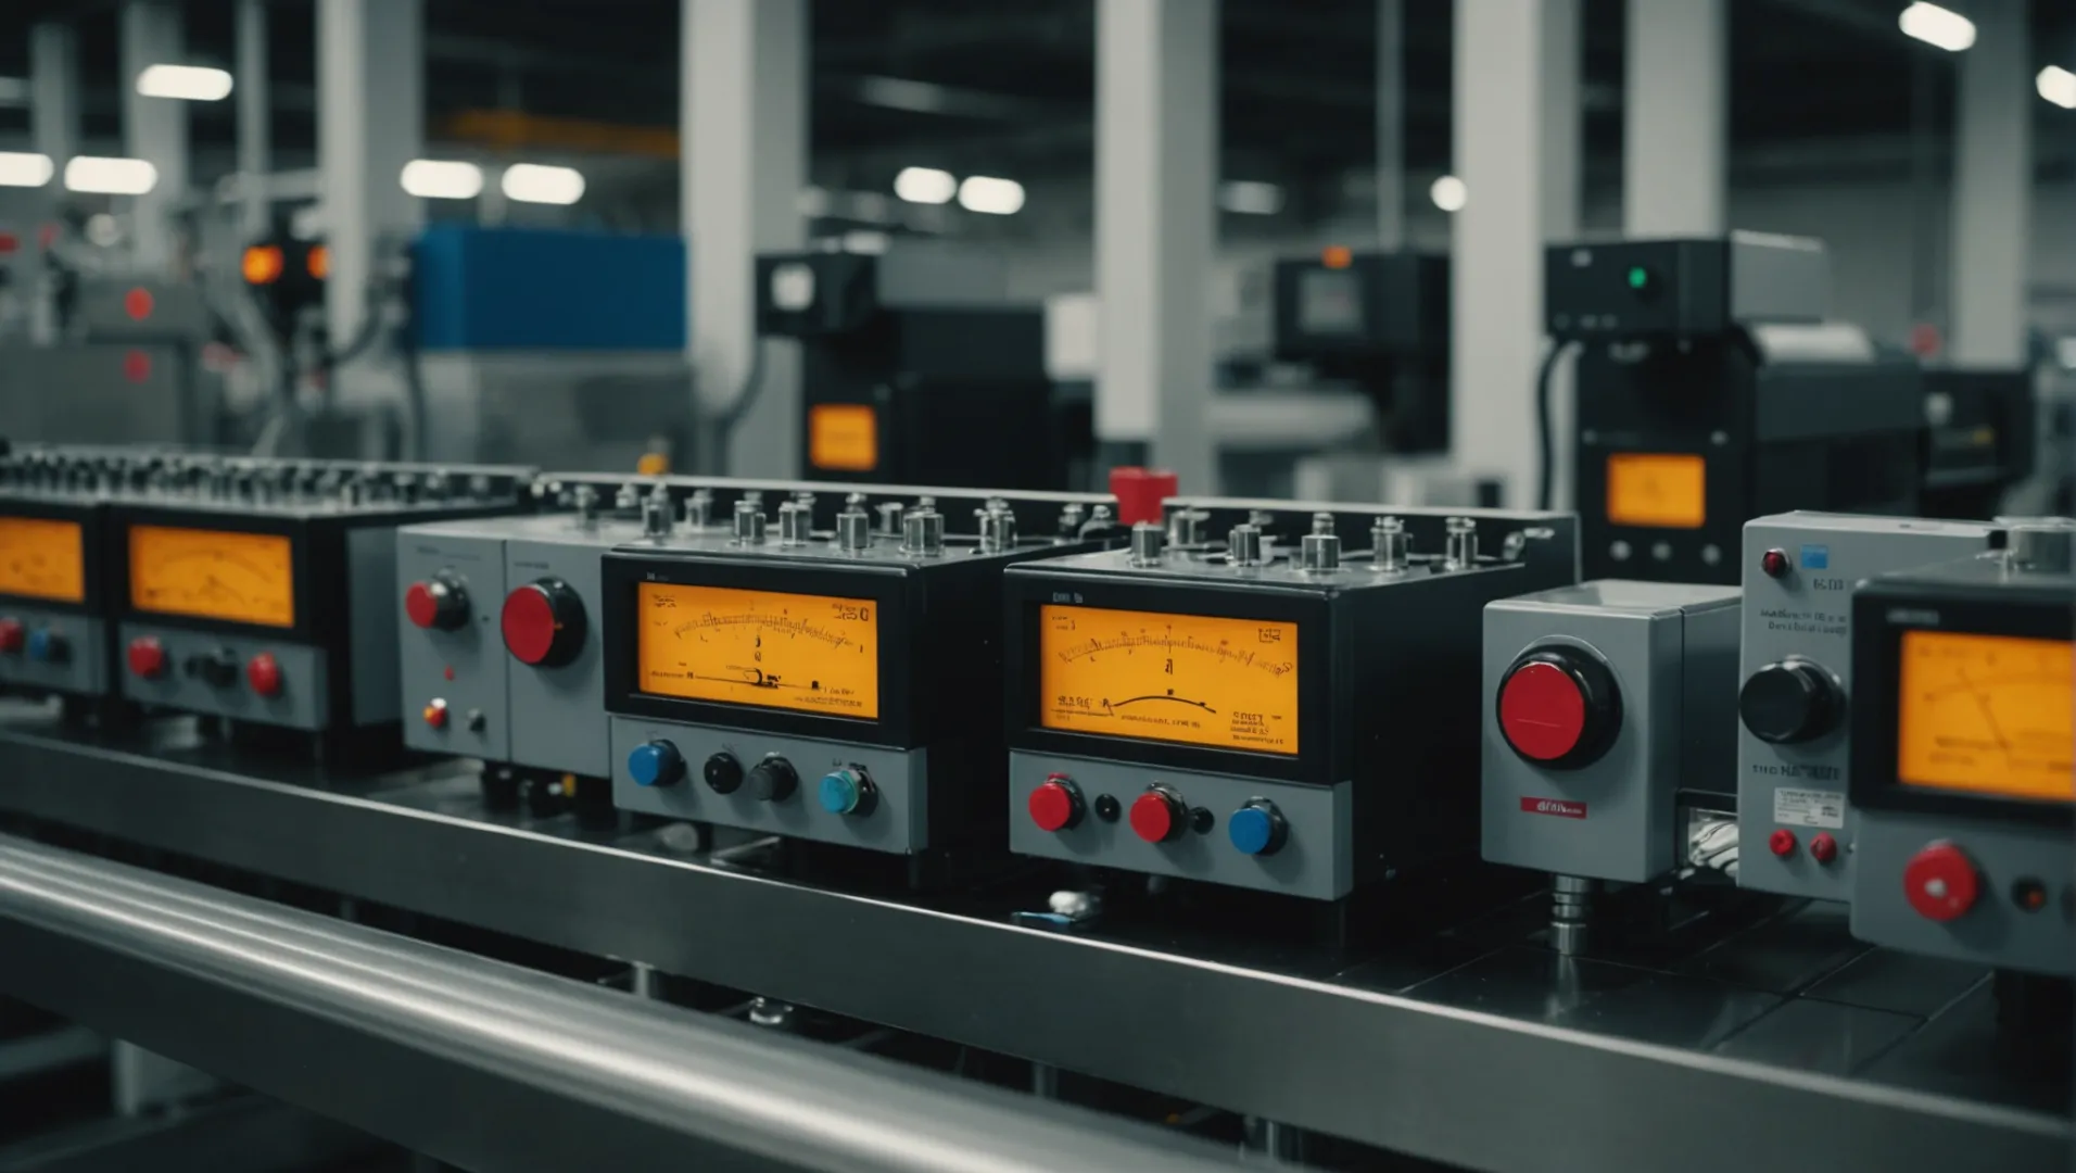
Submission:
POLYGON ((10 837, 0 988, 469 1169, 1183 1173, 1235 1161, 1148 1125, 10 837))

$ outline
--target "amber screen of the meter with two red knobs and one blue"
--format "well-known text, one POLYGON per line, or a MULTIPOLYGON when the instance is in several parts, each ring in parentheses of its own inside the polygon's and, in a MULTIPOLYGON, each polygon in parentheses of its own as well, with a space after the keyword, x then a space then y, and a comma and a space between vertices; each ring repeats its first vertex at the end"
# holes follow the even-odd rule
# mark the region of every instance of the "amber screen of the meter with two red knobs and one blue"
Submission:
POLYGON ((1038 608, 1038 722, 1071 733, 1298 754, 1298 625, 1038 608))

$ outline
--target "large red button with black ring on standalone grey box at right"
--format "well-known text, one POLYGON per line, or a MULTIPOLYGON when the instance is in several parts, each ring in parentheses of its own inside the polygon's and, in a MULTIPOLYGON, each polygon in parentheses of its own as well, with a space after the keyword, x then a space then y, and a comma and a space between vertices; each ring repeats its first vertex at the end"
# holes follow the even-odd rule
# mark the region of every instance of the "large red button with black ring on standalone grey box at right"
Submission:
POLYGON ((1499 733, 1522 758, 1561 770, 1601 758, 1621 729, 1615 675, 1584 648, 1532 648, 1499 681, 1499 733))

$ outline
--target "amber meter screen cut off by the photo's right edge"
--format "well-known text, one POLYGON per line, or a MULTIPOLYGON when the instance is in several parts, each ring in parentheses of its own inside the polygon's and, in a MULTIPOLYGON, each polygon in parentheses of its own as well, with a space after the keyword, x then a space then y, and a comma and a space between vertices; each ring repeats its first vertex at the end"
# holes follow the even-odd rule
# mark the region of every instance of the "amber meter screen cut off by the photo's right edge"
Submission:
POLYGON ((2076 644, 1906 631, 1895 776, 1912 787, 2076 799, 2076 644))

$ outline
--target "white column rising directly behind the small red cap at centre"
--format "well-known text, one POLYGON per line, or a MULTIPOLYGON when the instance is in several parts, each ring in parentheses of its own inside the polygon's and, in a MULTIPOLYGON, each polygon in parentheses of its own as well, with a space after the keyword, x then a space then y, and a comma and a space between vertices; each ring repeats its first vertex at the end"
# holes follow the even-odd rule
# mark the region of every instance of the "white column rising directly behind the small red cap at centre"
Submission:
POLYGON ((1096 0, 1096 440, 1150 444, 1183 492, 1219 488, 1217 189, 1217 0, 1096 0))

